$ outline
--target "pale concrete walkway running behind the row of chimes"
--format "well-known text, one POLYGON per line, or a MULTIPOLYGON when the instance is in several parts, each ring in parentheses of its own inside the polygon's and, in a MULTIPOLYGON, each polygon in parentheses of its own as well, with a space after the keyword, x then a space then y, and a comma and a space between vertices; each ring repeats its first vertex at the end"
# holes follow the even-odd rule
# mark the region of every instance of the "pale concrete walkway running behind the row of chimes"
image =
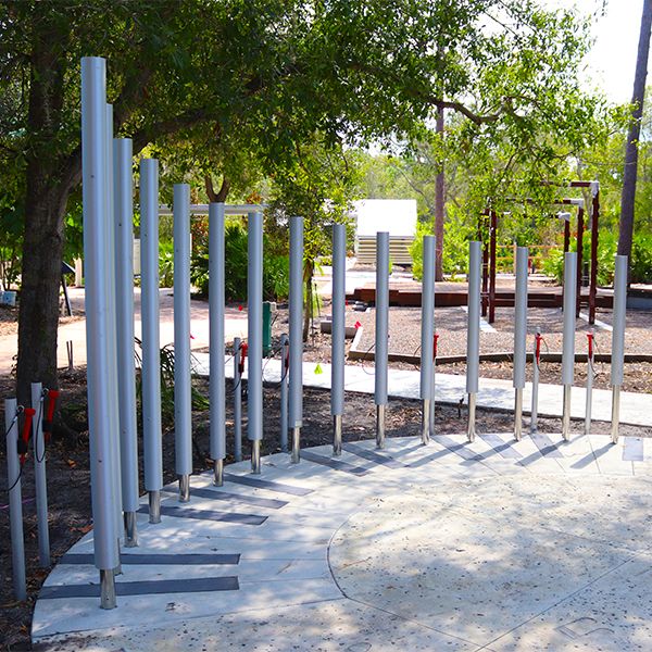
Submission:
MULTIPOLYGON (((196 369, 208 376, 209 354, 196 353, 196 369)), ((228 359, 230 360, 230 359, 228 359)), ((233 363, 226 365, 228 377, 233 377, 233 363)), ((269 383, 280 380, 280 361, 264 362, 264 379, 269 383)), ((303 385, 322 389, 330 388, 330 365, 325 363, 303 363, 303 385), (318 368, 317 368, 318 367, 318 368), (321 373, 318 373, 321 371, 321 373), (315 373, 317 372, 317 373, 315 373)), ((436 400, 441 403, 457 404, 460 399, 466 401, 466 377, 451 374, 437 374, 436 400)), ((362 393, 374 393, 374 367, 347 365, 344 368, 344 389, 362 393)), ((480 391, 477 404, 481 408, 514 410, 514 388, 511 380, 480 378, 480 391)), ((391 397, 402 399, 419 398, 419 372, 389 369, 388 391, 391 397)), ((531 384, 527 384, 523 392, 524 408, 529 414, 531 406, 531 384)), ((539 385, 539 415, 562 416, 563 388, 561 385, 539 385)), ((584 418, 586 390, 574 387, 570 397, 570 414, 575 418, 584 418)), ((592 417, 595 421, 611 422, 611 391, 593 390, 592 417)), ((635 426, 652 427, 652 394, 620 392, 620 422, 635 426)))

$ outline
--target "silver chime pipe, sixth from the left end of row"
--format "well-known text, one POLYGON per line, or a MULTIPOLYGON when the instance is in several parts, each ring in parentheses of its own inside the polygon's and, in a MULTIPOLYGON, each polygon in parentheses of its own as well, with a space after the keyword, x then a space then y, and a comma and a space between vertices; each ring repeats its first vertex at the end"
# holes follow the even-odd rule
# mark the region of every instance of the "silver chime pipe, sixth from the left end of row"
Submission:
MULTIPOLYGON (((216 487, 222 487, 224 484, 224 459, 226 457, 224 208, 224 203, 209 204, 210 439, 211 459, 213 460, 213 485, 216 487)), ((235 356, 237 364, 237 352, 235 356)), ((239 388, 238 390, 234 389, 234 391, 239 391, 239 388)))

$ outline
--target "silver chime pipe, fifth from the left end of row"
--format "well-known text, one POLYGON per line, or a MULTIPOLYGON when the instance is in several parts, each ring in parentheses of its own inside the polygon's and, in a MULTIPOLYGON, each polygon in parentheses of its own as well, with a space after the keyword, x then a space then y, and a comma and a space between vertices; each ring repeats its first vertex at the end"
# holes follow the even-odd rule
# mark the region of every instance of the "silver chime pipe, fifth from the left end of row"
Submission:
POLYGON ((174 449, 179 501, 190 500, 192 396, 190 384, 190 186, 174 186, 174 449))

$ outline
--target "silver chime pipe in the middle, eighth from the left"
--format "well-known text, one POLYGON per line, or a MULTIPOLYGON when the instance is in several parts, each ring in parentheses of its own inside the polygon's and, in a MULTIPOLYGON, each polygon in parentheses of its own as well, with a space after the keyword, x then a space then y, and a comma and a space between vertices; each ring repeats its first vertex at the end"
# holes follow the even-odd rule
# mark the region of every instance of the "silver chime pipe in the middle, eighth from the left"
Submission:
POLYGON ((290 217, 290 428, 293 464, 303 422, 303 217, 290 217))

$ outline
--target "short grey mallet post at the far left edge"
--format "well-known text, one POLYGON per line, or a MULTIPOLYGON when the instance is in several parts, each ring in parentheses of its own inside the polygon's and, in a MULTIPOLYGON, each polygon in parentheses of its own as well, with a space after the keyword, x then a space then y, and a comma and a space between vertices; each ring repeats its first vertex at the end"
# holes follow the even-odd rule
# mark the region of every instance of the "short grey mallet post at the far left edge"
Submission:
POLYGON ((15 399, 4 400, 4 431, 7 432, 7 482, 9 485, 9 523, 11 529, 11 565, 14 595, 27 599, 25 576, 25 537, 23 535, 23 492, 18 459, 18 419, 15 399))

